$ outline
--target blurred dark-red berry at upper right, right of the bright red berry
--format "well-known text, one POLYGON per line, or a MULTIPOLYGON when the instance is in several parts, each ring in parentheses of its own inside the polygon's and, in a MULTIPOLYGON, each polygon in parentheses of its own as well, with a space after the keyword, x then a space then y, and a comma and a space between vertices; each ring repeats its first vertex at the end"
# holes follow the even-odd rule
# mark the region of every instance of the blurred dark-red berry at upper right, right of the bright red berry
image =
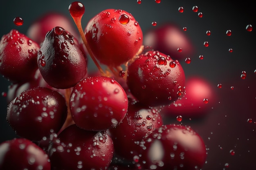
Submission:
POLYGON ((184 60, 195 53, 195 47, 186 32, 172 23, 148 30, 144 36, 144 45, 170 55, 174 60, 184 60))

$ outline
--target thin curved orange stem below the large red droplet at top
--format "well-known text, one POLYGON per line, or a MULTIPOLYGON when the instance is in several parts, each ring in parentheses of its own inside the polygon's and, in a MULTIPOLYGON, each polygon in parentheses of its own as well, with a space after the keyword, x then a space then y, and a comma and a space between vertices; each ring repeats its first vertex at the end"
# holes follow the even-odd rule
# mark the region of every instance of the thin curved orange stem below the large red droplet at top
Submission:
POLYGON ((88 45, 88 42, 87 42, 86 38, 85 38, 85 35, 84 35, 84 32, 83 32, 83 28, 82 28, 82 24, 81 24, 82 16, 81 16, 81 17, 73 17, 73 16, 72 16, 72 18, 73 18, 73 20, 74 20, 74 22, 75 22, 75 24, 76 24, 76 26, 77 26, 77 28, 78 28, 78 31, 79 31, 79 33, 80 33, 80 35, 81 35, 81 38, 82 38, 82 40, 83 40, 83 43, 85 44, 85 47, 86 47, 86 49, 87 49, 87 51, 88 51, 90 57, 92 58, 94 64, 97 66, 97 68, 98 68, 99 71, 101 72, 101 75, 106 76, 106 73, 103 71, 103 69, 101 68, 101 66, 100 66, 99 63, 97 62, 97 60, 96 60, 94 54, 92 53, 92 50, 90 49, 90 47, 89 47, 89 45, 88 45))

